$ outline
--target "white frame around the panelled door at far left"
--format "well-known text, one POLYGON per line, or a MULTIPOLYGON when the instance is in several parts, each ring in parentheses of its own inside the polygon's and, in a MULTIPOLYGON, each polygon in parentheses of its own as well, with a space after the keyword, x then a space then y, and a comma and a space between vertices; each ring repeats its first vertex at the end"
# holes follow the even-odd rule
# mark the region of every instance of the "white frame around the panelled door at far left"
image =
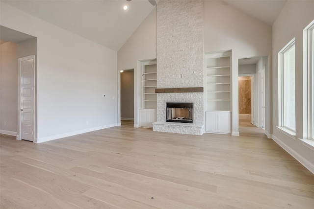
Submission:
POLYGON ((34 127, 34 134, 33 134, 33 142, 37 142, 37 137, 36 137, 36 57, 35 55, 30 55, 30 56, 26 56, 26 57, 22 57, 18 59, 18 63, 19 63, 19 70, 18 70, 18 135, 16 136, 16 139, 18 140, 22 140, 21 136, 22 136, 22 128, 21 128, 21 62, 29 60, 29 59, 34 59, 34 106, 32 107, 34 110, 34 121, 33 121, 33 127, 34 127))

